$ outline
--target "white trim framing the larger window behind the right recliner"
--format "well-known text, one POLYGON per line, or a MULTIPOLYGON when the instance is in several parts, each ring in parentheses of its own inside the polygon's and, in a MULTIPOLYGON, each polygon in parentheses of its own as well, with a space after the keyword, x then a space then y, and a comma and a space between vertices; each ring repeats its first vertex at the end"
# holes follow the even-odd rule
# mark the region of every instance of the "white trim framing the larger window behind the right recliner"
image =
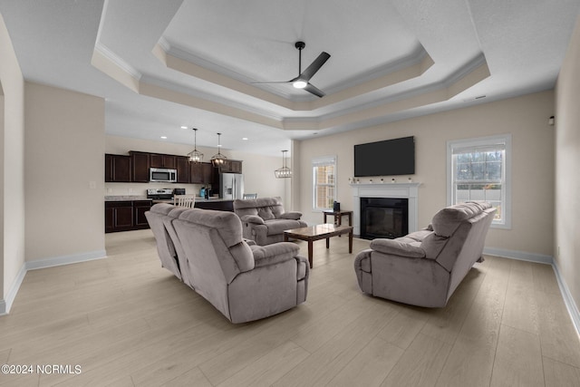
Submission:
POLYGON ((449 140, 447 141, 447 205, 451 206, 453 203, 453 150, 457 148, 493 146, 502 144, 505 147, 504 154, 504 195, 503 195, 503 220, 493 220, 491 227, 511 229, 511 134, 500 134, 496 136, 478 137, 463 140, 449 140))

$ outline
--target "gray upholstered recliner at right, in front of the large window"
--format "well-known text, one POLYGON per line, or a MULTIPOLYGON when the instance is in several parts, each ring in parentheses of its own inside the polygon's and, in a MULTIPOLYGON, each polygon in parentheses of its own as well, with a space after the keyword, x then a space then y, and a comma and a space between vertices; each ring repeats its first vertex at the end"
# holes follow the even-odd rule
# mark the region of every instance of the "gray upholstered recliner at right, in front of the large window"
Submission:
POLYGON ((354 259, 363 293, 404 304, 447 305, 469 269, 483 260, 495 208, 467 202, 441 209, 429 227, 396 239, 377 238, 354 259))

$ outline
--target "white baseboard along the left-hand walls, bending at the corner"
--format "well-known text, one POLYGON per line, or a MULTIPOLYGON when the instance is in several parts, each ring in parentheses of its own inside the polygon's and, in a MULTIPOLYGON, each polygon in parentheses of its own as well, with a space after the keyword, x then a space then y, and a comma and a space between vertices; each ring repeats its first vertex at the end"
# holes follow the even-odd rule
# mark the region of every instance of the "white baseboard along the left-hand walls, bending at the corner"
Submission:
POLYGON ((77 264, 85 261, 92 261, 93 259, 106 258, 107 252, 105 250, 90 251, 82 254, 73 254, 71 256, 53 256, 51 258, 38 259, 35 261, 24 262, 24 265, 20 268, 18 275, 14 279, 14 283, 10 286, 10 290, 6 294, 5 299, 0 298, 0 315, 8 314, 12 303, 14 303, 14 298, 20 289, 20 285, 26 276, 28 270, 41 269, 45 267, 61 266, 77 264))

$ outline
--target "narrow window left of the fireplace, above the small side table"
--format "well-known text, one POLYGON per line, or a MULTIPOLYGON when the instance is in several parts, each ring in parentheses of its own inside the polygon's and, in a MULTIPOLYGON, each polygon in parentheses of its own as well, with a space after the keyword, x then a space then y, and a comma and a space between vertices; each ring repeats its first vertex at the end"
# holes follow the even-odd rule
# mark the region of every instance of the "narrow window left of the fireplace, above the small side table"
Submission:
POLYGON ((326 156, 312 161, 313 208, 332 209, 336 200, 336 157, 326 156))

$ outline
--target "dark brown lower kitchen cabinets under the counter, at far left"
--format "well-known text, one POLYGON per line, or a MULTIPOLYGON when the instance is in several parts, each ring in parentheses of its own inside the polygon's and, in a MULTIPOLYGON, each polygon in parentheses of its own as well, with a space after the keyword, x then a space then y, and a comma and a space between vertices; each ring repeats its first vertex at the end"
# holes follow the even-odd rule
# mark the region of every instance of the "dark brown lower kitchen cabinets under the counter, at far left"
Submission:
POLYGON ((151 200, 105 201, 105 233, 149 228, 151 200))

